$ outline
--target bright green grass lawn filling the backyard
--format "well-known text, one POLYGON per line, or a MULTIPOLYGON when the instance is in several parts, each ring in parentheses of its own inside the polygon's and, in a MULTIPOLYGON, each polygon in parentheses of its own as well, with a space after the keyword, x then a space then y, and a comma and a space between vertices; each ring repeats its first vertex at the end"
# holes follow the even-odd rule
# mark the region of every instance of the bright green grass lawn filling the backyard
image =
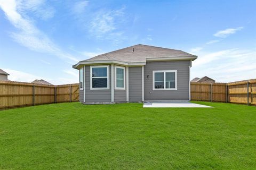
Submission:
POLYGON ((195 103, 0 111, 0 169, 255 169, 256 107, 195 103))

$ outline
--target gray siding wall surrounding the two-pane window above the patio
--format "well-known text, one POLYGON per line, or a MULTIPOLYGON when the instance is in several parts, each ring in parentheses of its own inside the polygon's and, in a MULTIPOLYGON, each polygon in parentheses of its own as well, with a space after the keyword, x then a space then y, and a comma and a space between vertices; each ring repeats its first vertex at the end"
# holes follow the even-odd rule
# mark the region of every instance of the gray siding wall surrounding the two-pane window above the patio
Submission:
POLYGON ((190 61, 147 62, 144 67, 145 100, 189 100, 189 64, 190 61), (153 90, 153 71, 157 70, 177 70, 178 89, 153 90))

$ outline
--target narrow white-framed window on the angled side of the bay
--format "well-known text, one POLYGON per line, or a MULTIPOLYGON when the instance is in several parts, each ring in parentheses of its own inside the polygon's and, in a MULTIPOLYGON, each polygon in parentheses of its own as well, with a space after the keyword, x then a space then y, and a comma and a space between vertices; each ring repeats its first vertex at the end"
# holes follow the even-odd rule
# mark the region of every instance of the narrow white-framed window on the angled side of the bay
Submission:
POLYGON ((125 67, 115 66, 115 89, 125 90, 125 67))

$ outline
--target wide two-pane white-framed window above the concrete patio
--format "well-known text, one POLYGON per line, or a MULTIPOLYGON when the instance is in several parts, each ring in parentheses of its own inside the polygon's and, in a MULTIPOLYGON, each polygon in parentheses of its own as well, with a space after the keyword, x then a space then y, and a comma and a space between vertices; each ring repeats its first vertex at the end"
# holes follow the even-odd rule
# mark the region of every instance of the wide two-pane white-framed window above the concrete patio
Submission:
POLYGON ((153 71, 153 90, 177 90, 177 70, 153 71))

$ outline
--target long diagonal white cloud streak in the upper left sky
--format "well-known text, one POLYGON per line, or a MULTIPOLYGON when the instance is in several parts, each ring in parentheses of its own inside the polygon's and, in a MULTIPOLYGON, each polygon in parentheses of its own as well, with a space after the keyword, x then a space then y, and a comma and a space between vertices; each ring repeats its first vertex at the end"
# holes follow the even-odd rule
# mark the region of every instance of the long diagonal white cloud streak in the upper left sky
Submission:
POLYGON ((77 58, 62 52, 43 32, 41 32, 27 17, 22 16, 18 11, 20 6, 14 0, 0 0, 0 7, 7 19, 18 29, 18 32, 11 32, 11 37, 17 43, 37 52, 49 53, 62 59, 69 59, 77 62, 77 58))

